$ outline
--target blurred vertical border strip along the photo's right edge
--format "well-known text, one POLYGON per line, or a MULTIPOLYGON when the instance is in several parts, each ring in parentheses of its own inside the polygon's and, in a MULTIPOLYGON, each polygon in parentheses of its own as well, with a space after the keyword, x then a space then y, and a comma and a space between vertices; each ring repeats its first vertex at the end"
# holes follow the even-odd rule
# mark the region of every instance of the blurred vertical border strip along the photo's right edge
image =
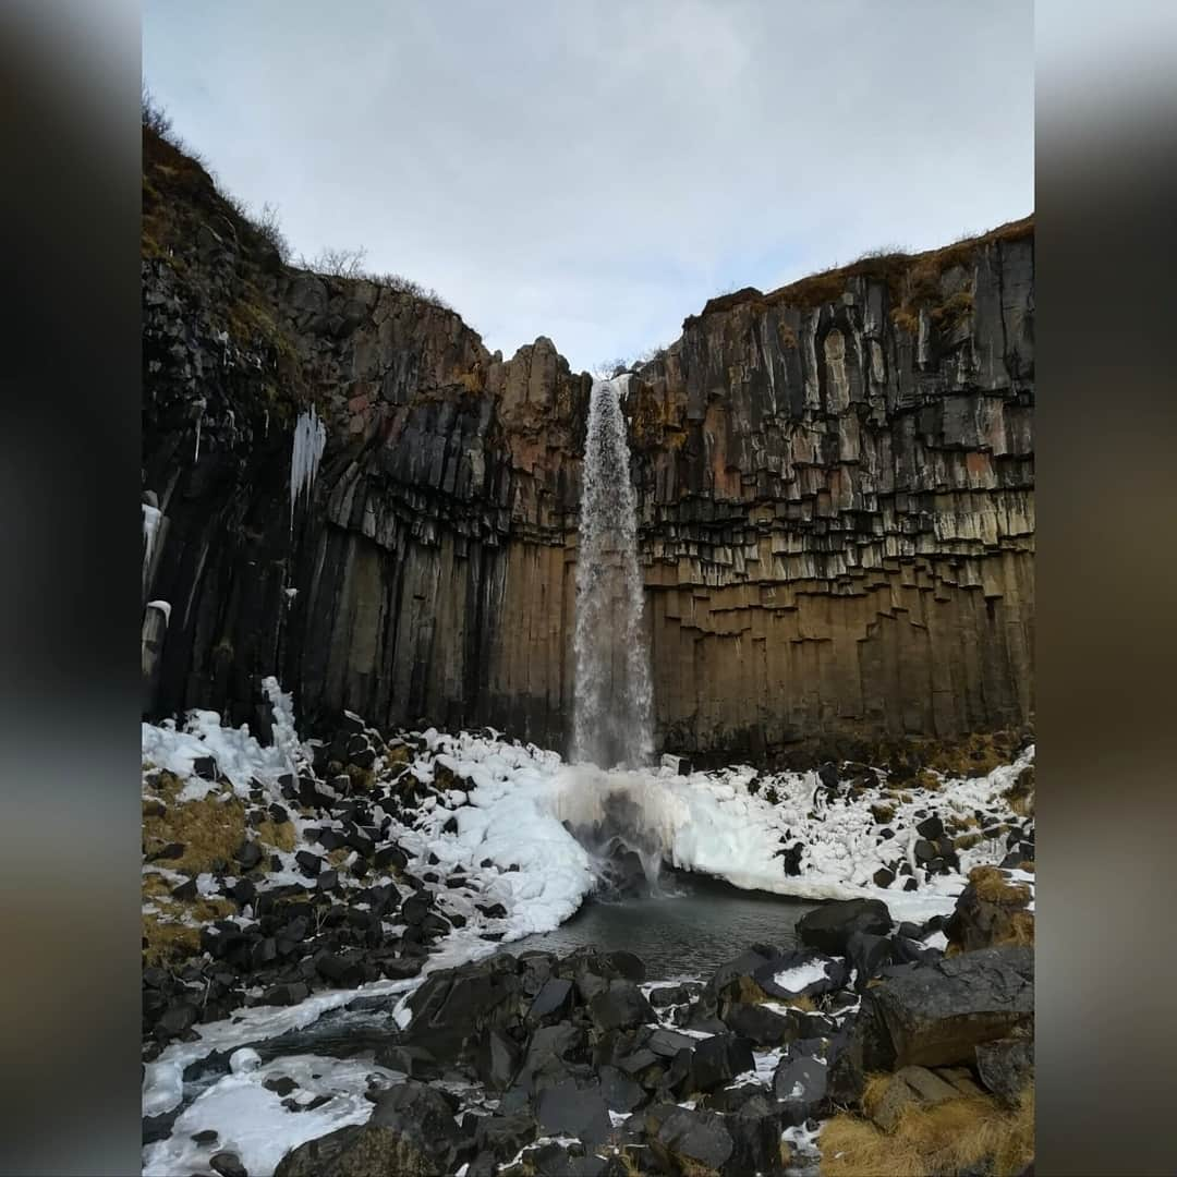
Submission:
POLYGON ((1036 26, 1037 1172, 1172 1173, 1177 6, 1036 26))

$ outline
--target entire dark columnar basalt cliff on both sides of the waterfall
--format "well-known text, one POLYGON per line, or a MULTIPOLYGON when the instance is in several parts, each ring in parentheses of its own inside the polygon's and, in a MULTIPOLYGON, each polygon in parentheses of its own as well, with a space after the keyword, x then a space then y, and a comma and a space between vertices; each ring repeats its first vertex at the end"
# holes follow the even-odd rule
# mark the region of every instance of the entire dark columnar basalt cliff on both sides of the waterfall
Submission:
MULTIPOLYGON (((591 379, 285 265, 145 131, 145 711, 490 724, 566 747, 591 379), (290 507, 294 421, 326 451, 290 507)), ((625 401, 656 739, 1032 718, 1033 230, 713 299, 625 401)))

